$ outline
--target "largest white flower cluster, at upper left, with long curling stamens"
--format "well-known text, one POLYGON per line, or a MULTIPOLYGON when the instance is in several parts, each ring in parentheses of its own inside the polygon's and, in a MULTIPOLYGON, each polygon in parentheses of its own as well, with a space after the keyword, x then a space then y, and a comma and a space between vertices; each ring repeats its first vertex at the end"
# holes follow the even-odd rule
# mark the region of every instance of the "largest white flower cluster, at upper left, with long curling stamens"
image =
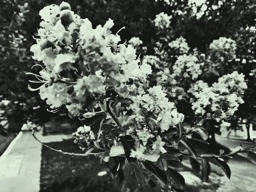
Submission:
POLYGON ((40 75, 30 74, 43 83, 38 87, 41 99, 47 99, 52 109, 66 105, 71 114, 79 115, 87 97, 96 98, 108 87, 124 97, 141 93, 138 87, 146 82, 151 67, 140 64, 132 45, 119 44, 118 32, 113 35, 110 30, 113 20, 93 29, 87 18, 75 15, 65 2, 46 6, 39 15, 43 21, 31 51, 33 58, 43 61, 46 68, 40 75), (130 79, 134 84, 127 84, 130 79))

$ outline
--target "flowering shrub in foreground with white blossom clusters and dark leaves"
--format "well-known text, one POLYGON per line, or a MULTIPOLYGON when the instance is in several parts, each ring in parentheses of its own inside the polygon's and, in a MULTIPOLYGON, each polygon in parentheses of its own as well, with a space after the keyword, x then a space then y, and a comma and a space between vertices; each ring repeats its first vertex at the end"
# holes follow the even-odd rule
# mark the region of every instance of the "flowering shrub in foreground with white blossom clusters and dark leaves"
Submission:
MULTIPOLYGON (((29 89, 39 90, 41 99, 46 100, 52 112, 65 109, 71 118, 78 118, 84 124, 73 136, 75 143, 86 152, 64 154, 96 155, 105 161, 112 157, 116 160, 113 178, 119 177, 121 190, 126 183, 133 186, 148 183, 162 191, 182 191, 179 188, 185 181, 173 168, 183 157, 189 158, 195 174, 201 172, 203 181, 209 179, 209 158, 230 178, 230 169, 221 157, 245 153, 255 147, 254 141, 251 146, 230 154, 198 155, 189 142, 194 139, 192 133, 206 142, 204 119, 211 117, 227 125, 223 119, 233 115, 243 102, 241 97, 247 88, 244 76, 237 72, 204 87, 205 82, 199 78, 205 75, 205 65, 211 64, 211 54, 203 55, 197 49, 189 52, 186 41, 180 38, 169 44, 170 49, 180 52, 178 57, 169 58, 159 42, 156 56, 145 56, 140 62, 132 45, 140 46, 141 41, 133 38, 128 45, 121 44, 118 35, 121 29, 113 35, 111 19, 104 26, 94 28, 89 19, 81 19, 66 2, 46 6, 39 15, 43 21, 31 51, 33 58, 42 61, 44 67, 35 64, 41 67, 39 75, 27 73, 37 79, 30 82, 40 84, 35 88, 29 85, 29 89), (156 73, 150 64, 158 70, 156 73), (151 86, 155 80, 157 84, 151 86), (189 82, 186 91, 185 82, 189 82), (173 85, 171 89, 175 94, 169 94, 168 83, 173 85), (187 92, 195 97, 189 101, 193 102, 195 114, 199 114, 192 127, 183 123, 184 114, 176 108, 183 95, 189 97, 187 92), (100 152, 92 153, 96 148, 100 152)), ((170 18, 158 15, 156 26, 169 27, 170 18)))

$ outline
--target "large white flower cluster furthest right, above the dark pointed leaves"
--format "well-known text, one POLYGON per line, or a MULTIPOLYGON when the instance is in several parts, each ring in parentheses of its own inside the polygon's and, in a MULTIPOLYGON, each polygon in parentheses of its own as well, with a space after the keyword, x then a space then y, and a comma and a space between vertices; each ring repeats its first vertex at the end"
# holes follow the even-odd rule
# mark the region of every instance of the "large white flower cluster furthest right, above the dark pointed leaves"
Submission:
POLYGON ((244 103, 241 98, 247 84, 244 82, 244 75, 237 71, 224 75, 218 79, 212 87, 204 87, 197 95, 198 99, 192 103, 195 114, 204 115, 210 113, 212 119, 222 121, 223 126, 230 126, 224 119, 230 118, 238 109, 239 104, 244 103))

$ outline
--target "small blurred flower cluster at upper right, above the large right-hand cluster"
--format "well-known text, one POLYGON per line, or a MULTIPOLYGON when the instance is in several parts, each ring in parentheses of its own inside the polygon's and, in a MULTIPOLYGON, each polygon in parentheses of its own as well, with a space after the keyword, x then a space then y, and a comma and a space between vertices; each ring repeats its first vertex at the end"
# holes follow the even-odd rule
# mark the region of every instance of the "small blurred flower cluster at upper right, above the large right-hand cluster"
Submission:
POLYGON ((209 49, 217 53, 217 56, 226 56, 228 59, 236 58, 236 41, 231 38, 220 37, 213 40, 209 49))

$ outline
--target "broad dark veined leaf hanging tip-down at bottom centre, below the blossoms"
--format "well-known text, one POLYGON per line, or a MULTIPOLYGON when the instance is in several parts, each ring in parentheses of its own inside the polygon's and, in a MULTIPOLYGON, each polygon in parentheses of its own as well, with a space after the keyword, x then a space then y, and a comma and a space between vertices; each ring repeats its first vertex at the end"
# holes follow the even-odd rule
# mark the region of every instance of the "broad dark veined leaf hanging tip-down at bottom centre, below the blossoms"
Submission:
POLYGON ((145 182, 138 160, 131 163, 125 160, 124 176, 127 183, 132 186, 141 186, 145 182))

